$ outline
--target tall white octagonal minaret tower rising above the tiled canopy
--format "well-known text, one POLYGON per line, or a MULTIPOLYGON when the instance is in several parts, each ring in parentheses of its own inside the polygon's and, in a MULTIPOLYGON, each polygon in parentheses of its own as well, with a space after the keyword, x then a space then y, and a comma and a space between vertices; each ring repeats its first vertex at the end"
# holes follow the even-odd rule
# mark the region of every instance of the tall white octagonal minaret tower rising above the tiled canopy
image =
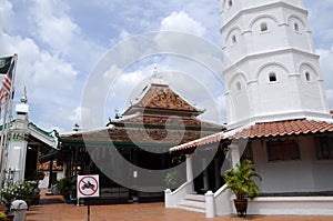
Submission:
POLYGON ((228 123, 330 119, 303 0, 220 0, 228 123))

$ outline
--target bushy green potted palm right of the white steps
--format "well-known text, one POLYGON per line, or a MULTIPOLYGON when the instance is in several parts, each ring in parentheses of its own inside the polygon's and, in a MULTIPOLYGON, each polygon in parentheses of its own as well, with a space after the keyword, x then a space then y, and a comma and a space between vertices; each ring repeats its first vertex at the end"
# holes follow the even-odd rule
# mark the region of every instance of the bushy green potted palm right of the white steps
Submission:
POLYGON ((260 181, 262 180, 254 171, 251 160, 244 160, 238 163, 235 168, 228 170, 226 174, 224 174, 225 190, 231 190, 236 197, 234 207, 239 217, 246 215, 248 198, 253 199, 260 194, 254 178, 258 178, 260 181))

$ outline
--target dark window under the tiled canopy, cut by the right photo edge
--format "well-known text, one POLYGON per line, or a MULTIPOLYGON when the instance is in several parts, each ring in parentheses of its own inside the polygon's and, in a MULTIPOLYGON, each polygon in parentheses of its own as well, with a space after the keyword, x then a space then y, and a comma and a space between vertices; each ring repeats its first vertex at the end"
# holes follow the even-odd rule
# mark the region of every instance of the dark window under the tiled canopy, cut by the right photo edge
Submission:
POLYGON ((333 138, 332 135, 316 137, 316 159, 327 160, 333 159, 333 138))

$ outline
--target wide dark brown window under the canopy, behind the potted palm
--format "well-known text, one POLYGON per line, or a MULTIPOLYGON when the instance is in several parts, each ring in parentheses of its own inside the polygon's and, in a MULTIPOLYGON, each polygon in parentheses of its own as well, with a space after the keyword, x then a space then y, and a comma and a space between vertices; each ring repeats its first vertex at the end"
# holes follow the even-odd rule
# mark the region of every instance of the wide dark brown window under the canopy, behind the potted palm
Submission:
POLYGON ((300 148, 295 140, 268 141, 269 161, 300 160, 300 148))

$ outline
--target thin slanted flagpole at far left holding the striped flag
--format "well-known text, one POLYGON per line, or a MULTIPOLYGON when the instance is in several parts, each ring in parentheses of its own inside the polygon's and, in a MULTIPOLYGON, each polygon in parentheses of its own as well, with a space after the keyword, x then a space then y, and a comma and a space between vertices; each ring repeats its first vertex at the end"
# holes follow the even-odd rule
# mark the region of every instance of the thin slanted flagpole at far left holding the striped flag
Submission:
POLYGON ((7 167, 7 161, 8 161, 8 133, 9 133, 9 122, 12 118, 12 90, 13 90, 13 82, 14 82, 14 77, 16 77, 16 70, 17 70, 17 61, 18 61, 18 54, 14 53, 11 62, 14 62, 13 70, 12 70, 12 76, 11 76, 11 87, 9 94, 7 97, 7 101, 4 104, 4 113, 3 113, 3 123, 2 123, 2 131, 1 131, 1 183, 0 187, 2 188, 6 181, 6 167, 7 167))

